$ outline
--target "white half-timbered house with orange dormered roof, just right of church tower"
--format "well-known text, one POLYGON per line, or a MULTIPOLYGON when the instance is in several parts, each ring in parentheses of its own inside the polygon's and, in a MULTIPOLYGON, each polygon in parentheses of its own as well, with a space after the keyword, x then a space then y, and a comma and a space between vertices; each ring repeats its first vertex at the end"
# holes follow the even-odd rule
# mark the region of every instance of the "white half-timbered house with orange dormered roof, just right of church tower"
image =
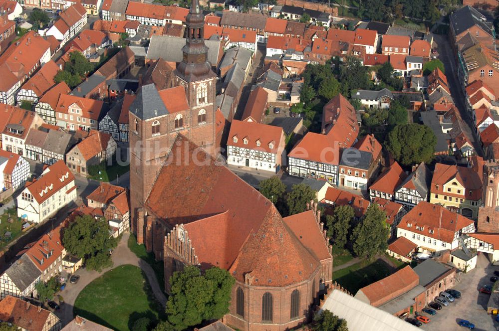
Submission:
POLYGON ((277 173, 282 165, 284 148, 282 128, 233 120, 227 141, 227 163, 277 173))

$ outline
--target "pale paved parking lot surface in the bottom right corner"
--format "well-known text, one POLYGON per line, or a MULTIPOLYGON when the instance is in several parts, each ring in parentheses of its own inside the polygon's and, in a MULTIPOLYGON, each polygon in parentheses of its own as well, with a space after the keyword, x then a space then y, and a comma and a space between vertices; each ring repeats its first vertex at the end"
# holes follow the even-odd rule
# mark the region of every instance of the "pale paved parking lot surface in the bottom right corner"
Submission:
POLYGON ((428 331, 460 330, 458 322, 468 320, 475 324, 475 330, 491 331, 499 330, 499 323, 494 321, 494 317, 487 314, 487 303, 490 295, 479 293, 478 290, 490 282, 494 276, 494 270, 499 267, 492 267, 486 255, 480 254, 477 267, 467 274, 462 273, 460 279, 456 281, 455 290, 461 292, 461 298, 450 303, 448 307, 443 307, 435 316, 428 316, 431 322, 423 325, 421 329, 428 331))

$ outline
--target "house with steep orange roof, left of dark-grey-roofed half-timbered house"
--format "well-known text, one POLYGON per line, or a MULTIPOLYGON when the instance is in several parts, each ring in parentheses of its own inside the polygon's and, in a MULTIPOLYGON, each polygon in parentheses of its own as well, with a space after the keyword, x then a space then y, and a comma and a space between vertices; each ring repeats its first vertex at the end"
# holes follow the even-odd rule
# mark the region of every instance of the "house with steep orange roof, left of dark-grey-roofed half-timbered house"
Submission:
POLYGON ((383 198, 393 200, 395 190, 407 177, 402 167, 395 161, 388 168, 384 169, 378 178, 369 186, 369 199, 383 198))

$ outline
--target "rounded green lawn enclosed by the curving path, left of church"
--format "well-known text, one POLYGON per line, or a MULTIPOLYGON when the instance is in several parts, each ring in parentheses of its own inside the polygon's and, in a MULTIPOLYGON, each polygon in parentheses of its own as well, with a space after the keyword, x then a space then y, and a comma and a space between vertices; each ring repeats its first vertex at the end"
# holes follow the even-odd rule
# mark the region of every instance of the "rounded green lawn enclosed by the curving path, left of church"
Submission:
POLYGON ((73 313, 118 331, 130 330, 142 317, 164 319, 145 275, 132 265, 116 267, 87 285, 76 298, 73 313))

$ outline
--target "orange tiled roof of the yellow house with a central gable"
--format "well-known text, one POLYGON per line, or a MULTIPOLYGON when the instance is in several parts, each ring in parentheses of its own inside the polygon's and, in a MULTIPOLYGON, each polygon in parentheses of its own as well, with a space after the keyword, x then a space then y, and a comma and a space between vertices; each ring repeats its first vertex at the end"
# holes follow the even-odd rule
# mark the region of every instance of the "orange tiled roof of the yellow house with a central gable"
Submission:
POLYGON ((444 165, 437 163, 433 171, 431 192, 467 199, 479 200, 482 197, 482 174, 478 174, 474 169, 467 166, 444 165), (456 179, 464 188, 463 194, 456 194, 444 191, 444 185, 456 179), (436 188, 438 186, 438 189, 436 188), (470 194, 471 192, 471 194, 470 194))

